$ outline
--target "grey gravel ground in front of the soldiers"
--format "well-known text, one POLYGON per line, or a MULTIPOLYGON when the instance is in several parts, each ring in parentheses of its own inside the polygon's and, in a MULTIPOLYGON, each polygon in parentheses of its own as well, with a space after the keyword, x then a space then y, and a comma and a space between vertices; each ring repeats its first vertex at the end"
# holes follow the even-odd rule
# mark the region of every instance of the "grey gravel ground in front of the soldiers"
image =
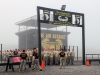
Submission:
POLYGON ((9 70, 5 72, 5 67, 0 67, 0 75, 100 75, 100 65, 92 66, 66 66, 65 69, 59 69, 59 66, 47 66, 43 71, 27 68, 25 72, 19 73, 18 66, 15 67, 15 72, 9 70))

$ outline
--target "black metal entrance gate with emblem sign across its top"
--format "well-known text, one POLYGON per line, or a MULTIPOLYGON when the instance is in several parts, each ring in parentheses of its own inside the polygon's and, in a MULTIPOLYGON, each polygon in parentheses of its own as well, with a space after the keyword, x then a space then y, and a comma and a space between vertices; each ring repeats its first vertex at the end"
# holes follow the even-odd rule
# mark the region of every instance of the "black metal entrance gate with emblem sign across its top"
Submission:
POLYGON ((62 11, 46 7, 37 6, 37 26, 38 26, 38 49, 39 62, 41 64, 41 25, 40 23, 47 23, 61 26, 74 26, 82 28, 82 64, 85 65, 85 26, 84 14, 70 11, 62 11), (43 10, 43 19, 40 19, 40 10, 43 10), (53 12, 53 21, 50 21, 50 12, 53 12))

